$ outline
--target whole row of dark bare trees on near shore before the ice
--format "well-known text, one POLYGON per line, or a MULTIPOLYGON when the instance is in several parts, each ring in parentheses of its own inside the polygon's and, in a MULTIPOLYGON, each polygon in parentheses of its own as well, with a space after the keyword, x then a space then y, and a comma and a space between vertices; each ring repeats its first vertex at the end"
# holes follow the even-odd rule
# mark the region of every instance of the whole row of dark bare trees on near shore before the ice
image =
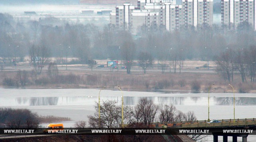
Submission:
MULTIPOLYGON (((99 119, 99 104, 94 106, 94 115, 88 116, 88 125, 92 128, 116 128, 121 127, 122 116, 121 106, 115 100, 103 101, 100 105, 100 119, 99 119)), ((123 123, 126 127, 132 128, 147 128, 152 127, 154 122, 159 123, 174 123, 186 122, 191 123, 196 121, 197 118, 193 111, 183 113, 176 109, 172 104, 170 105, 156 105, 148 98, 141 98, 136 106, 123 107, 123 123)), ((78 121, 76 127, 85 127, 85 121, 78 121)), ((206 136, 198 134, 187 134, 193 140, 201 140, 206 136)), ((148 138, 147 135, 134 136, 137 138, 148 138)))

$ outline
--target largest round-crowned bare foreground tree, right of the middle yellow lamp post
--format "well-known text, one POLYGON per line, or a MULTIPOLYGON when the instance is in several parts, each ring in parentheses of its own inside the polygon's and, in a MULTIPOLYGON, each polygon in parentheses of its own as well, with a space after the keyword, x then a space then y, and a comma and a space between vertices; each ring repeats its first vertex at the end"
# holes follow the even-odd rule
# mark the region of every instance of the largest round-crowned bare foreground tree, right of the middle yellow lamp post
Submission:
POLYGON ((158 106, 152 100, 141 98, 135 106, 133 117, 136 123, 150 124, 154 122, 157 111, 158 106))

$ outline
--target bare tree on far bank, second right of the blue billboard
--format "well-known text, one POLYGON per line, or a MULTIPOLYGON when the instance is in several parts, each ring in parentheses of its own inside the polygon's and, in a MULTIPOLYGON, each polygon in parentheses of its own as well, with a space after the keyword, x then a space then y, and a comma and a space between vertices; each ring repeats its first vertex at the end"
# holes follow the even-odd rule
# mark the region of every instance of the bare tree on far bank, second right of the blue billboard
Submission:
POLYGON ((142 67, 143 72, 146 73, 147 67, 150 67, 153 63, 153 57, 149 52, 139 53, 139 65, 142 67))

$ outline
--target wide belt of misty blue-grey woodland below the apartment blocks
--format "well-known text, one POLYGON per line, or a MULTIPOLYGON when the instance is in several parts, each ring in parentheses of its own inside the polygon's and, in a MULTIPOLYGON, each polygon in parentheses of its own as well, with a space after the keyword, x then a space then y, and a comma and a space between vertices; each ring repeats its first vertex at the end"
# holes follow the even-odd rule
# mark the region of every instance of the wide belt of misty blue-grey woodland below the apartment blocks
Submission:
POLYGON ((137 35, 132 35, 110 24, 97 27, 55 17, 15 21, 12 16, 0 13, 1 59, 23 61, 30 56, 29 61, 39 74, 45 64, 38 61, 48 63, 52 57, 57 64, 66 64, 65 58, 73 57, 76 63, 91 67, 95 59, 124 60, 128 74, 134 60, 139 60, 144 73, 157 61, 162 72, 169 66, 176 73, 182 69, 184 60, 217 61, 227 47, 252 50, 255 45, 255 32, 247 22, 238 25, 236 31, 225 26, 201 25, 171 32, 141 28, 137 35))

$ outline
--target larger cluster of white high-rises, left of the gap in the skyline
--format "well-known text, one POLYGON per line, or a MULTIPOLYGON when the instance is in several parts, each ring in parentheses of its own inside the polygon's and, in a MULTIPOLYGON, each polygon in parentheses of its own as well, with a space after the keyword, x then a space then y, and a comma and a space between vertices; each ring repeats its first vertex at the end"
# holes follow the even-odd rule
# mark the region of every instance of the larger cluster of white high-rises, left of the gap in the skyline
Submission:
POLYGON ((212 25, 213 0, 182 0, 182 5, 175 4, 175 0, 139 0, 137 6, 125 3, 110 13, 110 23, 133 33, 141 26, 162 26, 173 31, 182 26, 212 25))

